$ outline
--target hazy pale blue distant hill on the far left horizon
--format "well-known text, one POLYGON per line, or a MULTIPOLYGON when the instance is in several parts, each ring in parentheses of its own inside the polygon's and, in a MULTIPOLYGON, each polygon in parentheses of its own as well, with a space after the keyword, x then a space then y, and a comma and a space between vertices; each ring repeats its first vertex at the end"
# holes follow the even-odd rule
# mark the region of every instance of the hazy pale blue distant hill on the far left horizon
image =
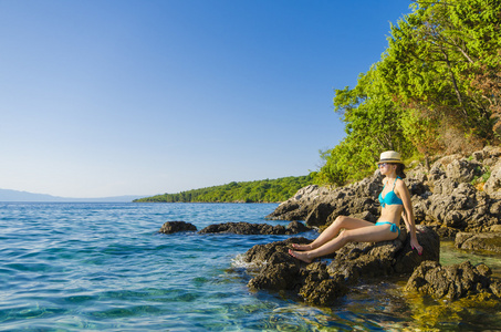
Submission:
POLYGON ((59 197, 46 194, 33 194, 28 191, 19 191, 11 189, 0 189, 0 201, 116 201, 126 203, 133 201, 134 199, 140 198, 142 196, 115 196, 115 197, 103 197, 103 198, 71 198, 71 197, 59 197))

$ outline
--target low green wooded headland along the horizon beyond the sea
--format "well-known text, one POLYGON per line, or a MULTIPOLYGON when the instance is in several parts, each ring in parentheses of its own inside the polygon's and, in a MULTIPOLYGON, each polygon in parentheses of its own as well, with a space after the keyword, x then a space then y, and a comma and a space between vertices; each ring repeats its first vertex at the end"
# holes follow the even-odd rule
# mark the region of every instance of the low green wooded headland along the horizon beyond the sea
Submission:
POLYGON ((300 188, 311 185, 313 175, 278 179, 229 183, 201 189, 163 194, 134 200, 135 203, 279 203, 292 197, 300 188))

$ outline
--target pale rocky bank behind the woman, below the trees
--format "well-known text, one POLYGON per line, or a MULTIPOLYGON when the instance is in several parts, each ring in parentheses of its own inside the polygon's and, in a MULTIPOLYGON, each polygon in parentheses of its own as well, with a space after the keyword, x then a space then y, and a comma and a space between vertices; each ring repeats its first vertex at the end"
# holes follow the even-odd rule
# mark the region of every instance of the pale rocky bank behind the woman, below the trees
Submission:
MULTIPOLYGON (((501 234, 501 148, 486 147, 469 157, 446 156, 430 169, 414 165, 405 179, 411 194, 416 225, 435 229, 441 238, 460 232, 501 234)), ((411 165, 413 166, 413 165, 411 165)), ((270 220, 305 220, 310 227, 328 226, 337 216, 376 221, 382 176, 346 187, 328 189, 315 185, 302 188, 282 203, 270 220)), ((480 248, 479 248, 480 249, 480 248)))

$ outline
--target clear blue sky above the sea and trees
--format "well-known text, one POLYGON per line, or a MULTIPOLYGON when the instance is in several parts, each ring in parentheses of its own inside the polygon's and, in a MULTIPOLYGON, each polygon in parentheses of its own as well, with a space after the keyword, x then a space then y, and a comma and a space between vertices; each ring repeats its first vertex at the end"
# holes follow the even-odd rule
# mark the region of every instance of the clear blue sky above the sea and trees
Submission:
POLYGON ((407 0, 0 0, 0 188, 154 195, 307 175, 407 0))

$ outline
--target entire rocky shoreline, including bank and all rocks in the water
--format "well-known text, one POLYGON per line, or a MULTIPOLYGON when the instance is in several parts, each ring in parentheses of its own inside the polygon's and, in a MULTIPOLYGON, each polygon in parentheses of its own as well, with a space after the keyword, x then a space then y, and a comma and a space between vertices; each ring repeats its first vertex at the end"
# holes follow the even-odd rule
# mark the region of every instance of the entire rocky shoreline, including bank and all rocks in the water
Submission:
MULTIPOLYGON (((351 286, 374 278, 407 276, 407 291, 451 300, 478 294, 499 300, 501 283, 491 278, 489 267, 472 267, 469 262, 441 267, 439 252, 440 239, 455 239, 458 249, 501 252, 500 156, 501 148, 486 147, 468 157, 441 157, 429 170, 411 165, 406 172, 422 256, 410 248, 409 236, 403 229, 403 236, 394 241, 348 243, 331 258, 305 264, 288 250, 292 242, 310 240, 290 238, 254 246, 243 255, 252 267, 248 270, 252 276, 248 287, 289 291, 309 303, 330 305, 346 294, 351 286)), ((378 170, 345 187, 307 186, 267 216, 269 220, 292 221, 288 227, 228 222, 211 225, 199 234, 296 235, 312 228, 322 230, 337 216, 375 222, 379 215, 376 197, 382 188, 378 170)), ((196 230, 192 225, 185 225, 185 229, 180 226, 166 222, 160 232, 196 230)))

